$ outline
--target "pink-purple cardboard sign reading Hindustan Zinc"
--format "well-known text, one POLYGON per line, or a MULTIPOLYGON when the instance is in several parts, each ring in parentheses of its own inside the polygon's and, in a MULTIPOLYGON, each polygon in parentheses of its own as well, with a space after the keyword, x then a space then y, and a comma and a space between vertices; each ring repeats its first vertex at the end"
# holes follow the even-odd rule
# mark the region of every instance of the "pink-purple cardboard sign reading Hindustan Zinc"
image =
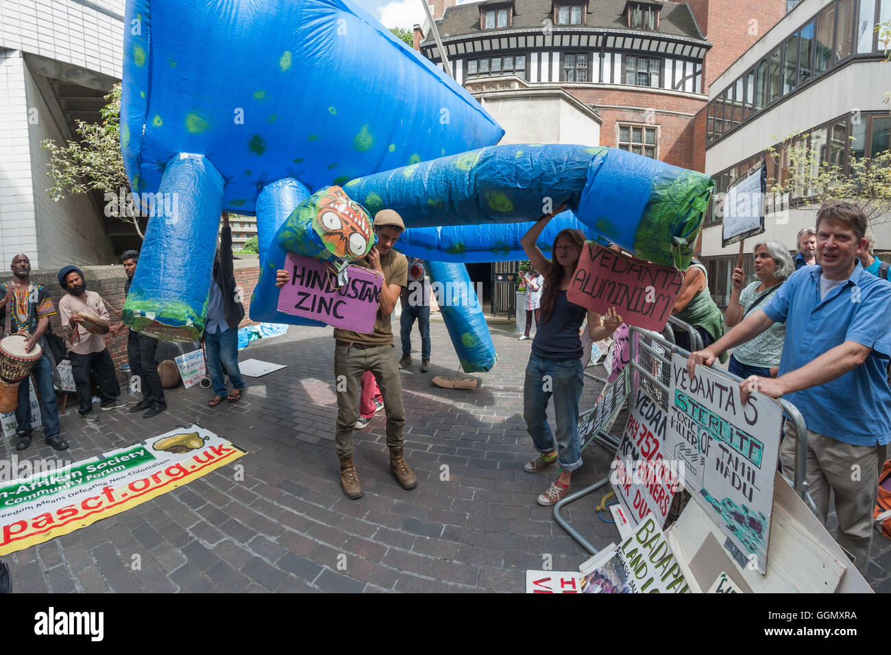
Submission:
POLYGON ((383 275, 361 266, 347 266, 349 280, 336 289, 336 276, 318 259, 289 252, 284 268, 290 280, 279 292, 280 312, 363 334, 374 332, 383 275))

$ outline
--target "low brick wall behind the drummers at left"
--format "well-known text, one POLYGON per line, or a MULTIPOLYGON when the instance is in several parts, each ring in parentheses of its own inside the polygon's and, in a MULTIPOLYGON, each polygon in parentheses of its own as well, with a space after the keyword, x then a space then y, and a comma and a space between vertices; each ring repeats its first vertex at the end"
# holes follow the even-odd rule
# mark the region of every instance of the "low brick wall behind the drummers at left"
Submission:
MULTIPOLYGON (((81 266, 86 277, 87 287, 90 291, 96 291, 103 299, 105 299, 111 307, 120 311, 124 305, 124 285, 127 283, 127 275, 124 274, 123 266, 81 266)), ((235 280, 242 288, 242 299, 245 309, 245 318, 241 321, 241 327, 245 325, 256 324, 248 318, 250 305, 250 295, 257 286, 257 277, 260 273, 257 258, 236 259, 235 260, 235 280)), ((46 290, 53 297, 53 304, 56 310, 59 308, 59 299, 65 291, 61 290, 59 282, 56 278, 58 270, 34 269, 31 271, 31 281, 43 284, 46 290)), ((9 274, 0 275, 0 282, 8 282, 9 274)), ((110 324, 116 325, 120 323, 119 315, 109 310, 110 324)), ((59 316, 55 315, 50 319, 53 332, 60 336, 63 335, 61 330, 61 322, 59 316)), ((120 365, 127 364, 127 332, 121 333, 118 337, 112 338, 110 335, 105 336, 105 343, 111 353, 111 359, 118 370, 118 381, 124 382, 126 376, 120 373, 120 365)))

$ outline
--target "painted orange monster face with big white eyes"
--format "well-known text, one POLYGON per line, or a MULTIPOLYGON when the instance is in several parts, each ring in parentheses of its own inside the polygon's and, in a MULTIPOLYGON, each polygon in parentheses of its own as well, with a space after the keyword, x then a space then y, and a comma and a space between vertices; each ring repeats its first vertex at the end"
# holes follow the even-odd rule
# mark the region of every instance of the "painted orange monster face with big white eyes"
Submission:
POLYGON ((332 186, 318 204, 315 232, 335 257, 363 258, 374 244, 372 218, 339 186, 332 186))

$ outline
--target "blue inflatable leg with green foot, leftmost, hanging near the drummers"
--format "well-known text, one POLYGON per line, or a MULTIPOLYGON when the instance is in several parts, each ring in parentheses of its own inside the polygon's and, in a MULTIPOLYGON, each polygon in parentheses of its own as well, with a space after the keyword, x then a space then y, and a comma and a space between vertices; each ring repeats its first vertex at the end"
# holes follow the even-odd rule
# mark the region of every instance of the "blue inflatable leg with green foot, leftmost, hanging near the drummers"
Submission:
POLYGON ((225 183, 203 155, 168 162, 133 276, 124 322, 168 341, 204 330, 225 183))

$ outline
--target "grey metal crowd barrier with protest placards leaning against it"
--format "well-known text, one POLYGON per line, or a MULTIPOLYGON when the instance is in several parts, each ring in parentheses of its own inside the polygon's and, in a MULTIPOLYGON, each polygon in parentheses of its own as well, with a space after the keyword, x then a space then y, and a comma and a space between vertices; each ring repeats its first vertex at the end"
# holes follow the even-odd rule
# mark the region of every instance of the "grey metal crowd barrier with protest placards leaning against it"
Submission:
MULTIPOLYGON (((669 323, 679 328, 680 330, 685 330, 691 338, 691 344, 694 344, 694 347, 698 350, 703 348, 702 338, 699 336, 699 332, 697 332, 693 327, 684 323, 680 319, 672 316, 669 319, 669 323)), ((666 325, 666 332, 671 333, 671 328, 666 325)), ((671 386, 671 356, 672 353, 678 353, 679 355, 686 357, 690 356, 690 353, 683 348, 674 344, 674 338, 670 340, 666 338, 667 335, 658 335, 655 332, 647 332, 641 330, 639 328, 632 327, 628 332, 628 340, 629 340, 629 362, 628 365, 631 366, 631 372, 638 374, 638 379, 640 381, 640 386, 642 386, 645 391, 650 395, 650 397, 654 400, 658 401, 659 406, 665 411, 668 412, 668 393, 669 388, 671 386), (637 344, 635 344, 635 336, 640 335, 640 352, 637 351, 637 344), (654 346, 658 346, 658 349, 654 346), (661 352, 658 352, 661 351, 661 352), (658 375, 658 377, 657 377, 658 375)), ((732 381, 741 382, 742 378, 737 375, 734 375, 725 369, 721 368, 718 365, 712 364, 709 366, 713 371, 720 373, 726 378, 729 378, 732 381)), ((596 378, 593 375, 589 376, 593 377, 596 380, 601 380, 601 378, 596 378)), ((601 380, 602 381, 602 380, 601 380)), ((634 386, 634 375, 632 376, 632 393, 636 389, 634 386)), ((811 498, 810 493, 807 490, 807 480, 805 478, 805 463, 807 461, 807 425, 805 424, 805 418, 801 415, 795 405, 792 405, 788 400, 780 399, 777 401, 791 422, 794 423, 797 433, 797 449, 795 453, 795 479, 789 480, 789 484, 795 489, 797 495, 801 497, 801 499, 807 504, 810 508, 811 512, 817 514, 816 505, 813 503, 813 498, 811 498)), ((590 410, 588 410, 590 411, 590 410)), ((587 413, 587 412, 585 412, 587 413)), ((603 430, 599 430, 597 434, 594 436, 592 443, 597 442, 604 446, 607 449, 607 452, 615 452, 619 446, 620 438, 615 435, 609 434, 603 430)), ((785 477, 785 476, 784 476, 785 477)), ((788 477, 787 477, 788 479, 788 477)), ((573 528, 569 521, 564 519, 560 515, 560 510, 567 504, 573 503, 579 498, 591 494, 594 491, 602 487, 606 487, 609 485, 609 475, 606 478, 600 479, 597 482, 589 485, 588 487, 584 487, 584 489, 580 489, 576 491, 574 494, 569 494, 565 498, 563 498, 559 503, 554 505, 554 520, 560 525, 560 528, 566 530, 569 536, 576 540, 582 547, 591 553, 592 555, 598 553, 598 549, 593 546, 587 539, 582 536, 576 528, 573 528)))

